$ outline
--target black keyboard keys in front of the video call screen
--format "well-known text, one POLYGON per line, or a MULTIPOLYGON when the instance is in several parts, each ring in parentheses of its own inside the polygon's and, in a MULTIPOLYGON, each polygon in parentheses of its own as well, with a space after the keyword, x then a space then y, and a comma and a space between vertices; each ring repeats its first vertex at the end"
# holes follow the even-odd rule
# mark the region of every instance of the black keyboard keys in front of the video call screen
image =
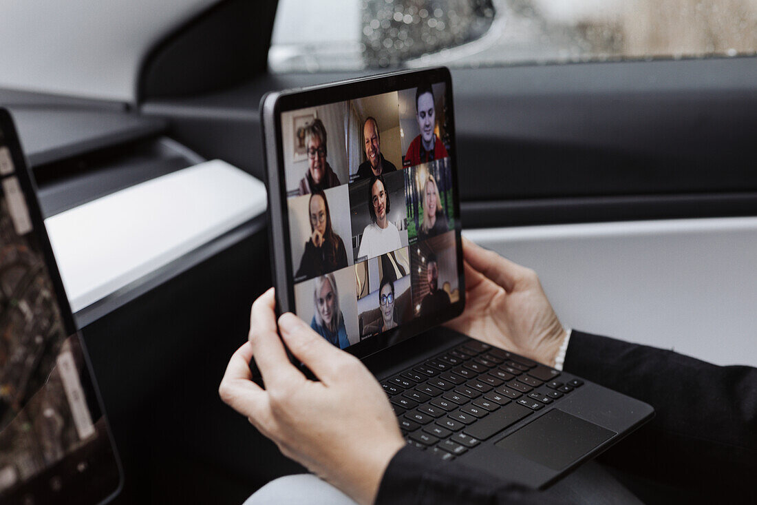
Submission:
POLYGON ((469 340, 382 381, 407 443, 452 460, 583 381, 469 340))

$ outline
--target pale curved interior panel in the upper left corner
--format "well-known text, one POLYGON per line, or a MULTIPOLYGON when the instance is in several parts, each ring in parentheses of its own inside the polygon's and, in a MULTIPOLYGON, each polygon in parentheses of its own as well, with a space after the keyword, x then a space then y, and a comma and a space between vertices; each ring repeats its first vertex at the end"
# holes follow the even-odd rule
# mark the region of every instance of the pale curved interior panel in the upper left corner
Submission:
POLYGON ((133 103, 145 54, 217 1, 3 2, 0 87, 133 103))

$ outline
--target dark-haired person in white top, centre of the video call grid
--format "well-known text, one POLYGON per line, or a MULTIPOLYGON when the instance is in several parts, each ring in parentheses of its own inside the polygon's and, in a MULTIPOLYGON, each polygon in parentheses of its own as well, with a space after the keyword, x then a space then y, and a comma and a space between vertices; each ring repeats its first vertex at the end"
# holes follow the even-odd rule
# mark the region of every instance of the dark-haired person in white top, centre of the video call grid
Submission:
POLYGON ((374 258, 402 247, 400 231, 387 217, 391 207, 384 176, 372 176, 368 190, 368 212, 372 223, 363 229, 363 239, 357 249, 358 258, 374 258))

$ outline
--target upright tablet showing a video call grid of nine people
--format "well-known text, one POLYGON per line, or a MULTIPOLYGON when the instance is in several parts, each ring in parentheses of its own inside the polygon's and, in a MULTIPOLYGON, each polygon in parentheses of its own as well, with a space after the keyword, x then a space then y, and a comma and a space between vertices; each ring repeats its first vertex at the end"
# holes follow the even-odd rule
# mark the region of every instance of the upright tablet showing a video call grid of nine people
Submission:
POLYGON ((447 68, 269 93, 261 114, 279 313, 363 357, 463 311, 447 68))

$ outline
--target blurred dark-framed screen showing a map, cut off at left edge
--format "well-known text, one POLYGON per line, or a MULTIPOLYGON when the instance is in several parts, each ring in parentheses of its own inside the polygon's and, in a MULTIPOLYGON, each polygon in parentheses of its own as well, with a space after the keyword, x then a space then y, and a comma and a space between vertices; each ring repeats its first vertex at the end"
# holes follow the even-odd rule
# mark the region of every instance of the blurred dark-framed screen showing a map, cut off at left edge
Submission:
POLYGON ((0 183, 0 503, 103 503, 120 463, 2 108, 0 183))

